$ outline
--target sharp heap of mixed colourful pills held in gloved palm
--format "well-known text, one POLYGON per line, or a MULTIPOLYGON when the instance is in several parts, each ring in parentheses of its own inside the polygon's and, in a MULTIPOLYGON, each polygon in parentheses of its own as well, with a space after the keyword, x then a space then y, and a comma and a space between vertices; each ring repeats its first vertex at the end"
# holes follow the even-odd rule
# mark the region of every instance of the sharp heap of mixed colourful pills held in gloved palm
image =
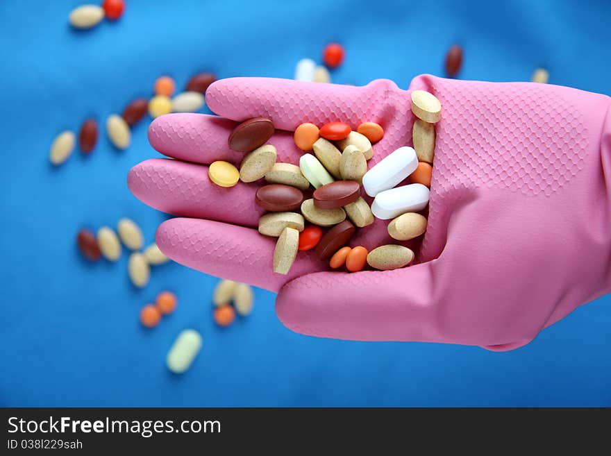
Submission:
MULTIPOLYGON (((257 117, 238 125, 229 137, 231 149, 246 153, 240 169, 229 162, 213 162, 210 180, 221 187, 233 187, 238 180, 251 183, 265 178, 256 192, 256 203, 269 213, 259 219, 259 233, 277 237, 275 273, 286 274, 299 251, 315 249, 322 260, 351 272, 366 264, 374 269, 405 267, 414 253, 403 245, 387 244, 371 251, 363 246, 347 247, 358 228, 374 223, 374 217, 392 221, 389 235, 406 241, 423 235, 426 218, 418 212, 428 205, 433 173, 435 127, 441 103, 433 94, 415 90, 411 108, 417 117, 412 130, 413 148, 403 146, 367 169, 374 155, 371 144, 382 139, 384 130, 365 122, 354 131, 344 122, 299 125, 294 141, 304 153, 299 167, 276 162, 276 148, 267 141, 274 135, 270 119, 257 117), (410 176, 410 184, 396 187, 410 176), (304 192, 314 187, 311 198, 304 192), (361 185, 374 198, 371 207, 361 196, 361 185), (306 226, 306 221, 310 225, 306 226), (324 233, 324 229, 328 229, 324 233)), ((229 319, 229 316, 227 315, 229 319)))

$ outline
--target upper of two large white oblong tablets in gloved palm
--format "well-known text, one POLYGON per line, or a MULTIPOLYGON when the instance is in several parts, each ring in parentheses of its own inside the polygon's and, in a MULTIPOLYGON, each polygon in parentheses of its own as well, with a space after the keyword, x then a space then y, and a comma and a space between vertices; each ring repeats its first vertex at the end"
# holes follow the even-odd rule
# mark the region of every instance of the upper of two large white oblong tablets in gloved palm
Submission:
POLYGON ((416 151, 409 146, 399 147, 369 169, 362 185, 369 196, 390 189, 412 174, 418 167, 416 151))

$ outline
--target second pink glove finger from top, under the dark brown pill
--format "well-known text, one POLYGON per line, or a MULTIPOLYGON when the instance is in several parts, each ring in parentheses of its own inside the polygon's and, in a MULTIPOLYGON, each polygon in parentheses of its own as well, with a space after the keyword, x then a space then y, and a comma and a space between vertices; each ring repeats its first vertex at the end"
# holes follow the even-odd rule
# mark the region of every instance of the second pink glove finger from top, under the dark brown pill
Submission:
MULTIPOLYGON (((237 123, 222 117, 181 112, 157 117, 149 126, 153 149, 171 158, 210 164, 225 160, 238 166, 244 153, 229 149, 228 140, 237 123)), ((290 133, 278 132, 269 140, 278 151, 278 161, 296 164, 301 151, 290 133)))

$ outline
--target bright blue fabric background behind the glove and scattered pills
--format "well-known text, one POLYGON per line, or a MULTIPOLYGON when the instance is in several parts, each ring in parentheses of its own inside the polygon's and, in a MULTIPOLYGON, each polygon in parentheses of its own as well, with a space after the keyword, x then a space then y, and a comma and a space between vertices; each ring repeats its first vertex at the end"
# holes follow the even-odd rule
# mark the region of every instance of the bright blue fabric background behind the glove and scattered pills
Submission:
POLYGON ((167 264, 137 290, 127 255, 88 264, 76 250, 79 228, 125 216, 153 241, 166 216, 126 187, 134 164, 158 156, 148 121, 127 151, 102 133, 87 158, 75 151, 58 169, 47 158, 58 132, 89 116, 103 123, 150 96, 162 74, 178 87, 203 70, 290 78, 297 60, 319 60, 335 40, 346 48, 337 83, 405 88, 417 74, 441 75, 458 42, 462 78, 527 81, 544 66, 551 83, 611 94, 611 3, 128 0, 119 22, 77 32, 67 15, 80 3, 0 3, 0 405, 611 405, 611 296, 509 353, 296 335, 260 289, 252 316, 221 330, 215 278, 167 264), (178 311, 143 329, 140 307, 168 288, 178 311), (171 375, 165 355, 187 327, 203 350, 171 375))

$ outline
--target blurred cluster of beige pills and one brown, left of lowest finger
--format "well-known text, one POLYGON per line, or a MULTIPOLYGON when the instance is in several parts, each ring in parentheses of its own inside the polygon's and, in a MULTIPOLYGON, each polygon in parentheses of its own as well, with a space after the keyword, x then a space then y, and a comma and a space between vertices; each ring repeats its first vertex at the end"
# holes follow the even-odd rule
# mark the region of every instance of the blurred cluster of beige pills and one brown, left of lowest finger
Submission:
POLYGON ((169 261, 156 243, 144 246, 142 230, 131 219, 121 219, 117 223, 117 231, 108 226, 102 226, 97 235, 90 230, 82 229, 76 235, 76 244, 83 256, 92 262, 96 262, 102 256, 106 260, 116 262, 122 254, 121 242, 132 251, 128 260, 128 276, 138 288, 142 288, 149 283, 151 266, 164 264, 169 261), (117 233, 119 234, 117 236, 117 233))

